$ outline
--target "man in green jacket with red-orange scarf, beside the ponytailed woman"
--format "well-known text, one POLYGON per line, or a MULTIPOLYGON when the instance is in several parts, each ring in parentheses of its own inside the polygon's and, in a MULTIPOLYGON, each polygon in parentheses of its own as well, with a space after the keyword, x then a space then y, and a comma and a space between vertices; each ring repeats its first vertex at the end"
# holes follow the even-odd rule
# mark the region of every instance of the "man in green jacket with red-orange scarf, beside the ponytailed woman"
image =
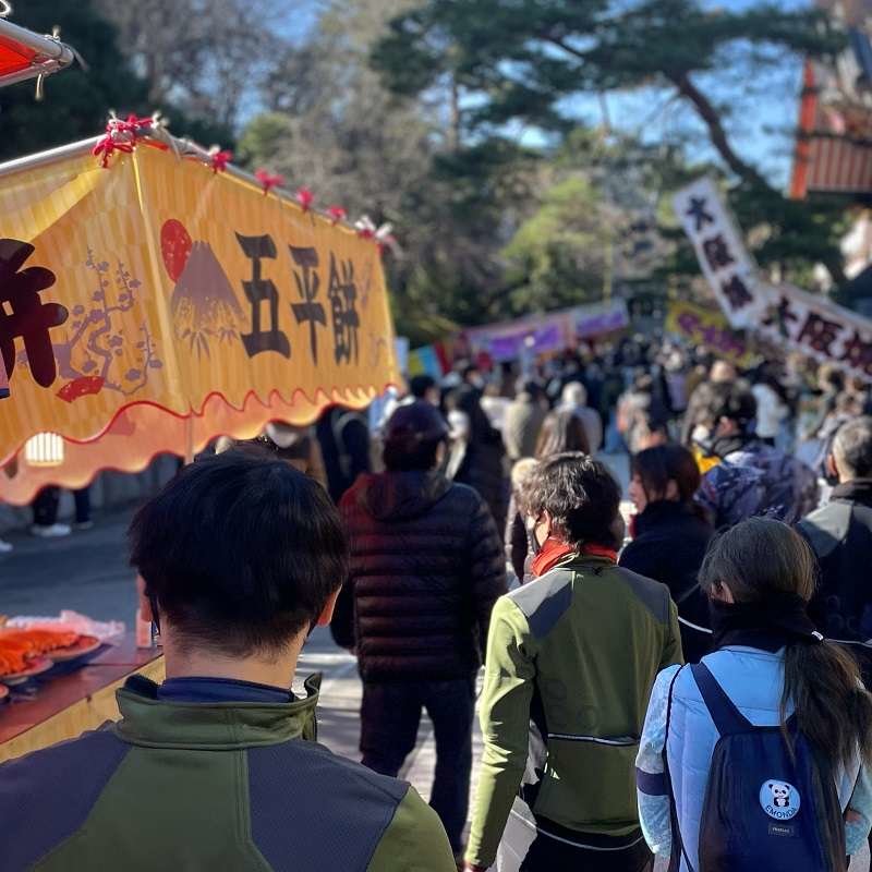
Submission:
POLYGON ((491 618, 465 868, 641 872, 634 761, 654 679, 681 663, 677 610, 617 565, 620 488, 603 463, 544 460, 523 502, 535 579, 491 618))

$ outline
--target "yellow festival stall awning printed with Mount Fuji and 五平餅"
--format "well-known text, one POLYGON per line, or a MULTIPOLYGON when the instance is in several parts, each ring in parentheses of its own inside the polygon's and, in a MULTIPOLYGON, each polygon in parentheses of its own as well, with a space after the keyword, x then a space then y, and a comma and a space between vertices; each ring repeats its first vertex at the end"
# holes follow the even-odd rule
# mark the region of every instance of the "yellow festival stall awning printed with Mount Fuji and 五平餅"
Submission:
POLYGON ((234 168, 141 143, 101 169, 93 144, 0 166, 0 500, 399 380, 372 238, 234 168), (25 457, 39 433, 62 463, 25 457))

